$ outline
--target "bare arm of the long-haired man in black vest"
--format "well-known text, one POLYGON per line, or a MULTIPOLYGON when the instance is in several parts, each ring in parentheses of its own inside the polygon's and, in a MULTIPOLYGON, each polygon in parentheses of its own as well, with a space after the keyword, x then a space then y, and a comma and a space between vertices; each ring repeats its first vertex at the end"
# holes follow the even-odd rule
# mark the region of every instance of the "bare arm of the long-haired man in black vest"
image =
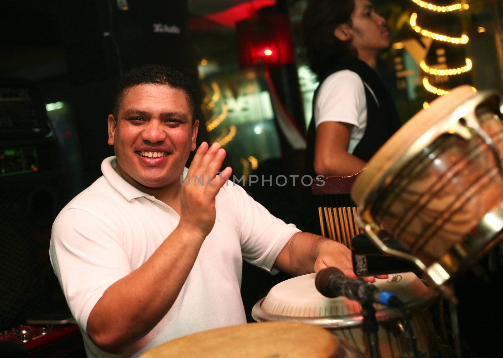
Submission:
POLYGON ((348 153, 352 124, 322 122, 316 128, 314 171, 325 176, 359 173, 367 163, 348 153))

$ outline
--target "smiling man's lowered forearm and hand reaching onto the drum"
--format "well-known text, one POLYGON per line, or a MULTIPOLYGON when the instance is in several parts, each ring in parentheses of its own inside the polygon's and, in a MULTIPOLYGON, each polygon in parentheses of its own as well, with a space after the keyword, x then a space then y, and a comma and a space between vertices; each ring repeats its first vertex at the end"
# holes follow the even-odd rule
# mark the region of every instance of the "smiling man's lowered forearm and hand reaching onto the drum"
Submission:
MULTIPOLYGON (((310 233, 293 235, 276 258, 274 267, 295 276, 337 267, 347 276, 356 278, 350 249, 337 241, 310 233)), ((373 277, 365 280, 375 281, 373 277)))

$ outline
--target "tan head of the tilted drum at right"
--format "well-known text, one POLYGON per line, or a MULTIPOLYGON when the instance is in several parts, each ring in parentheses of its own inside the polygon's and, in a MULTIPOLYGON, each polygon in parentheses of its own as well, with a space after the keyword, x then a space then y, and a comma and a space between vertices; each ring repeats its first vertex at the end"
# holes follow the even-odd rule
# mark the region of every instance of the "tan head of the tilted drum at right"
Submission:
MULTIPOLYGON (((448 132, 451 125, 449 117, 456 108, 475 95, 470 86, 459 86, 435 99, 430 108, 422 109, 398 129, 370 159, 355 181, 351 190, 355 203, 364 207, 371 192, 392 175, 390 172, 400 169, 403 164, 400 159, 416 155, 440 134, 448 132)), ((452 120, 457 121, 458 118, 453 116, 452 120)))

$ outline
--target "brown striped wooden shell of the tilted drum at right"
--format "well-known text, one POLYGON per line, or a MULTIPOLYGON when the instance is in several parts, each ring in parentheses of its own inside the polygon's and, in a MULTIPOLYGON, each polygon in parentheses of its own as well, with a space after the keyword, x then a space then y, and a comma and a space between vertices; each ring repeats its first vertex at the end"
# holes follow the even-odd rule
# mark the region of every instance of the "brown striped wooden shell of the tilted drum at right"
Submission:
MULTIPOLYGON (((503 154, 499 117, 483 108, 477 117, 503 154)), ((501 201, 503 180, 490 148, 476 136, 443 134, 380 188, 371 214, 430 266, 501 201)))

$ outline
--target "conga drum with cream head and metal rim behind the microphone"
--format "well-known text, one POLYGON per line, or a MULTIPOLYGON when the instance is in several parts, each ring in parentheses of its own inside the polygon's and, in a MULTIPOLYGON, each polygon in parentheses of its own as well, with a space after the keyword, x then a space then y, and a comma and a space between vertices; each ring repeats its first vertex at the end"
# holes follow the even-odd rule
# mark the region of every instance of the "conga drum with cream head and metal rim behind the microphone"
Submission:
MULTIPOLYGON (((363 354, 370 356, 362 327, 361 305, 345 297, 322 296, 315 288, 315 277, 315 273, 310 273, 276 284, 254 306, 251 316, 258 322, 302 322, 325 328, 353 342, 363 354)), ((428 357, 436 356, 440 343, 436 344, 438 337, 427 307, 435 302, 437 294, 411 272, 376 279, 375 285, 381 290, 393 292, 404 302, 417 337, 418 349, 425 351, 428 357)), ((401 313, 381 304, 374 304, 374 307, 379 322, 381 356, 399 358, 409 351, 410 346, 401 313)))

